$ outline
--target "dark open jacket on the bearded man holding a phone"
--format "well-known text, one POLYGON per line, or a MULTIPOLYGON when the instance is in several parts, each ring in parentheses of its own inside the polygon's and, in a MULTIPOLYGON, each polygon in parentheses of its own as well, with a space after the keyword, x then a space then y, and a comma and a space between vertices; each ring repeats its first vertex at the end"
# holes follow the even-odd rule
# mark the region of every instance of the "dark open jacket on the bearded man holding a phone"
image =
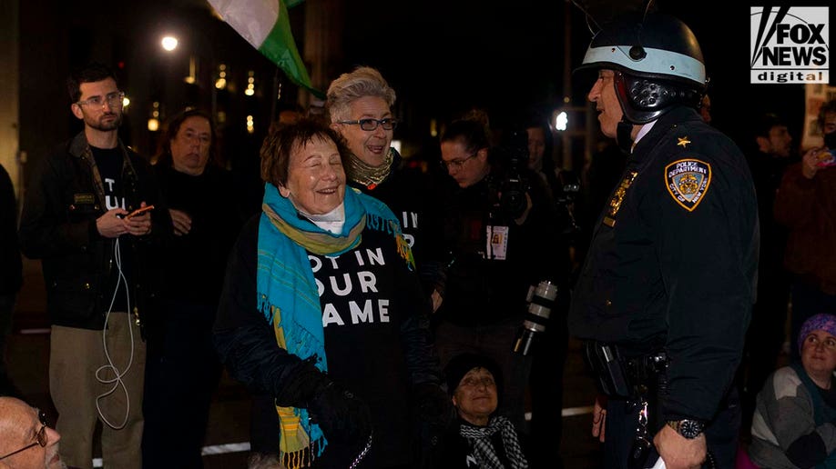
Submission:
MULTIPOLYGON (((131 309, 141 316, 156 291, 152 282, 158 276, 146 250, 170 235, 171 219, 148 162, 121 142, 119 148, 125 155, 126 209, 134 210, 141 202, 156 207, 149 235, 118 238, 120 251, 127 249, 133 259, 134 271, 128 277, 131 309)), ((117 284, 116 240, 102 237, 96 227, 107 205, 94 168, 87 137, 81 132, 41 162, 26 192, 18 235, 23 253, 42 259, 46 309, 55 325, 102 329, 117 284)))

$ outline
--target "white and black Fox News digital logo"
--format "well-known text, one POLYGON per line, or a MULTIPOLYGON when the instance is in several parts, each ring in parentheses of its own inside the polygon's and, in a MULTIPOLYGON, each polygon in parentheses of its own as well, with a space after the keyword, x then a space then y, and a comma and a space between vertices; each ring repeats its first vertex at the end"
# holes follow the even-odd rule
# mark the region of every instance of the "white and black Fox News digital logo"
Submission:
POLYGON ((752 6, 751 83, 828 83, 827 6, 752 6))

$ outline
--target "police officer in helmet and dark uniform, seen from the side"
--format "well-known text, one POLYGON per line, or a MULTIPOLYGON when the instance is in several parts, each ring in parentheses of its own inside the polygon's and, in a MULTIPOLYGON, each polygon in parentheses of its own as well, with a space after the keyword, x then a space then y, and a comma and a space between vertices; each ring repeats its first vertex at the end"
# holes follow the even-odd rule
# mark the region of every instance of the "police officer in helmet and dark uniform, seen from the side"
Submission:
POLYGON ((587 97, 603 133, 630 154, 569 313, 608 394, 596 400, 593 434, 606 433, 606 467, 652 464, 654 449, 669 469, 709 454, 733 467, 732 381, 760 239, 746 160, 698 114, 705 66, 677 18, 604 25, 579 69, 597 72, 587 97))

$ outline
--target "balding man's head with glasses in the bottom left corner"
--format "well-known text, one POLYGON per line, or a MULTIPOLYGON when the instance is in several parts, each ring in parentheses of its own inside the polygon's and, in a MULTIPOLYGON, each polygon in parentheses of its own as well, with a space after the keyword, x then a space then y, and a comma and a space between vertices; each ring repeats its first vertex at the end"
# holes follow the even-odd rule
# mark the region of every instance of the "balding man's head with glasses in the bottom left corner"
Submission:
POLYGON ((61 435, 46 414, 15 397, 0 396, 0 468, 63 469, 61 435))

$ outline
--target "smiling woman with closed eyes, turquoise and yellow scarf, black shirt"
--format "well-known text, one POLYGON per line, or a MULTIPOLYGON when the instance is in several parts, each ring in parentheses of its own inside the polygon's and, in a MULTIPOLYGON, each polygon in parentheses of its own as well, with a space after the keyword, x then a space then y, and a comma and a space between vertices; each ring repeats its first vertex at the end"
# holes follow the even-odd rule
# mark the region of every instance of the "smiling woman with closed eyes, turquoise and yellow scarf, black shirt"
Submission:
POLYGON ((309 120, 267 137, 263 212, 215 324, 229 373, 258 394, 252 451, 291 468, 411 464, 409 396, 439 381, 412 253, 386 205, 346 188, 343 145, 309 120))

